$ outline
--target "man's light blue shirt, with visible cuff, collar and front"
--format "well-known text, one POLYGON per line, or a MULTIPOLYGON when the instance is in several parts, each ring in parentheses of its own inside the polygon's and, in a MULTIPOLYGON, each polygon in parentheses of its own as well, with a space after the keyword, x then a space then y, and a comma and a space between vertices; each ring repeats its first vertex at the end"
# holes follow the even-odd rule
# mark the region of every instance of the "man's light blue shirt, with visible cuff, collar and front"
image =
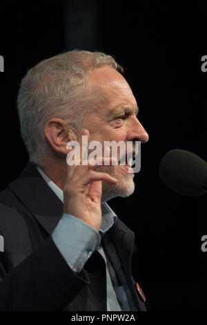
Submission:
MULTIPOLYGON (((63 202, 63 191, 54 183, 46 174, 43 173, 40 167, 36 166, 46 183, 58 198, 63 202)), ((101 204, 102 222, 99 232, 90 227, 87 223, 77 219, 70 214, 63 214, 55 230, 52 232, 52 239, 57 245, 63 258, 72 268, 74 272, 81 272, 84 264, 90 258, 93 252, 97 250, 103 257, 106 263, 106 286, 107 286, 107 310, 108 311, 121 311, 118 299, 126 299, 124 288, 121 286, 121 295, 112 286, 108 262, 106 255, 101 246, 101 236, 105 234, 117 220, 117 215, 109 205, 104 202, 101 204), (68 240, 70 239, 70 240, 68 240)), ((122 301, 121 301, 122 302, 122 301)))

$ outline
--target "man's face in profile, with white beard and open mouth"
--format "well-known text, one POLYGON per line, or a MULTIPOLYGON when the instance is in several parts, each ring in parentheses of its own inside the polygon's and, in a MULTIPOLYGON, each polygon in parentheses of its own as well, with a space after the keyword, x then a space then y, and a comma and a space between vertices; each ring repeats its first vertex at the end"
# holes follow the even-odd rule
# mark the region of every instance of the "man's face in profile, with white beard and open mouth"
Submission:
MULTIPOLYGON (((101 67, 90 73, 92 91, 99 98, 99 104, 87 116, 84 128, 90 132, 90 141, 116 142, 139 140, 146 142, 148 133, 137 120, 137 102, 124 77, 115 69, 101 67)), ((118 156, 118 161, 119 161, 118 156)), ((134 192, 134 174, 120 164, 117 166, 101 166, 103 171, 117 178, 115 185, 102 185, 102 201, 115 196, 126 197, 134 192)))

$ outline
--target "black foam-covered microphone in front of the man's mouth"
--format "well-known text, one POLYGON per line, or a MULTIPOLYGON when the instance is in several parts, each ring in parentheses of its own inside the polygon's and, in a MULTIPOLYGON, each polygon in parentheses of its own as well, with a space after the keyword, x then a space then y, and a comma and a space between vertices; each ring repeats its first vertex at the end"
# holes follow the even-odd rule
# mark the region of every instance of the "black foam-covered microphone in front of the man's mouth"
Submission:
POLYGON ((179 194, 207 194, 207 163, 193 152, 181 149, 168 151, 159 165, 159 177, 179 194))

